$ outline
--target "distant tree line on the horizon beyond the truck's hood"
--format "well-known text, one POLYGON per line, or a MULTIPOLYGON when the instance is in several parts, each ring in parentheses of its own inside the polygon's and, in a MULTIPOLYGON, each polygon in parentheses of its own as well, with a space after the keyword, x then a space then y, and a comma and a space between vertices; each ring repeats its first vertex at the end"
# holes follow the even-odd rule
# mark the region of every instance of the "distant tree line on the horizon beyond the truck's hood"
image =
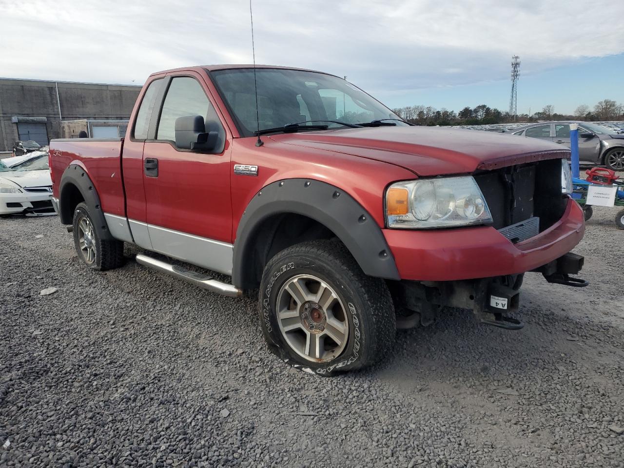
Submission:
POLYGON ((392 109, 392 111, 402 119, 416 125, 485 125, 537 122, 539 120, 624 120, 624 105, 611 99, 603 99, 593 108, 584 104, 579 105, 574 111, 574 115, 558 114, 552 104, 545 105, 542 110, 532 115, 518 114, 515 117, 507 111, 492 109, 485 104, 477 105, 474 108, 464 107, 459 112, 444 107, 438 110, 430 105, 407 105, 392 109))

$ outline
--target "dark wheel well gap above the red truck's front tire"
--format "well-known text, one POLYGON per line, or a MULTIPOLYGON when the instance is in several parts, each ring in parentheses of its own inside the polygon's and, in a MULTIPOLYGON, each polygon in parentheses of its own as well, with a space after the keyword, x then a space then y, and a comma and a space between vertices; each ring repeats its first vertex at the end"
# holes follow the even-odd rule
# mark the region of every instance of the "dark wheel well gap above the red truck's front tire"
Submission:
POLYGON ((258 288, 266 263, 276 253, 308 240, 331 239, 336 235, 322 223, 295 213, 266 218, 250 239, 246 255, 251 268, 243 274, 245 289, 258 288))

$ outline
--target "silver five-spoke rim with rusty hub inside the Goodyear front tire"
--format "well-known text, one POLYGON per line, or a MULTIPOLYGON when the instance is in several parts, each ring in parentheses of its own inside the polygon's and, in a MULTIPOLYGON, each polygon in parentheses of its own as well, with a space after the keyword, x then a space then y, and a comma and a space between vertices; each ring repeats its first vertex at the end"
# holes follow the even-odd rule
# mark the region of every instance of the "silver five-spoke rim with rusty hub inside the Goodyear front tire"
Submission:
POLYGON ((282 336, 302 358, 337 358, 349 338, 349 320, 336 291, 313 275, 297 275, 281 287, 276 311, 282 336))

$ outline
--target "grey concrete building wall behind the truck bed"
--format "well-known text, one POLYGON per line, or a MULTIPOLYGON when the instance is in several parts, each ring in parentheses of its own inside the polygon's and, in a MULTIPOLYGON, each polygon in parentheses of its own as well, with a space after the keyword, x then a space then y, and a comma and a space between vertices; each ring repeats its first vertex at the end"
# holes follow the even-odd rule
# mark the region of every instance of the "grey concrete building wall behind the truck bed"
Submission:
POLYGON ((128 85, 1 78, 0 152, 11 151, 19 139, 18 124, 11 122, 12 117, 45 117, 48 139, 61 138, 61 120, 129 119, 140 89, 128 85))

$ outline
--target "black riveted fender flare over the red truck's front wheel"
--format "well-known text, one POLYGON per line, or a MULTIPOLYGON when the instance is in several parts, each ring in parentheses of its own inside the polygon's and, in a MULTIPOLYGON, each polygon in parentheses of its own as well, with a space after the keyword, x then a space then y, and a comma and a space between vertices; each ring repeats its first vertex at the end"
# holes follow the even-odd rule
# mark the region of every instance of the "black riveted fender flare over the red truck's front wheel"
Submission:
POLYGON ((278 180, 263 187, 251 199, 236 230, 232 283, 250 285, 250 258, 255 234, 268 218, 295 213, 321 223, 341 240, 369 276, 400 280, 394 257, 370 213, 349 193, 326 182, 305 178, 278 180))

